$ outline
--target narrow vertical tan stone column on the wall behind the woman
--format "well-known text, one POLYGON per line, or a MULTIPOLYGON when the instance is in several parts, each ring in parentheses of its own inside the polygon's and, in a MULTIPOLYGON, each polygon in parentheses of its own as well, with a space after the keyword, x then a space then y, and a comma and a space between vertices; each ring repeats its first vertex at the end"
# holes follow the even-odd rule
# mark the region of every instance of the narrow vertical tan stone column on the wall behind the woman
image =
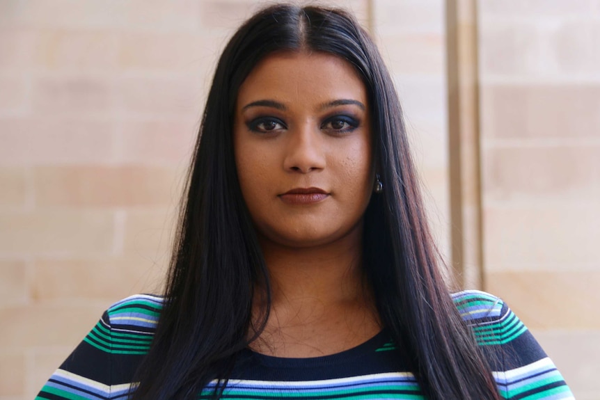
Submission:
POLYGON ((451 254, 455 278, 483 287, 475 0, 446 1, 451 254))

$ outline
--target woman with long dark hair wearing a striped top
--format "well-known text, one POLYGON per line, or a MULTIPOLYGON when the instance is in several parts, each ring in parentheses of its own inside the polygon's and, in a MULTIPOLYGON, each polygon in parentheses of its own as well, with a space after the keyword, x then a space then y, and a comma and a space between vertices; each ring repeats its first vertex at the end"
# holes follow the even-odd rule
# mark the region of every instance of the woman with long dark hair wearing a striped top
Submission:
POLYGON ((339 10, 230 40, 173 253, 164 297, 113 305, 40 399, 572 398, 498 298, 448 293, 393 83, 339 10))

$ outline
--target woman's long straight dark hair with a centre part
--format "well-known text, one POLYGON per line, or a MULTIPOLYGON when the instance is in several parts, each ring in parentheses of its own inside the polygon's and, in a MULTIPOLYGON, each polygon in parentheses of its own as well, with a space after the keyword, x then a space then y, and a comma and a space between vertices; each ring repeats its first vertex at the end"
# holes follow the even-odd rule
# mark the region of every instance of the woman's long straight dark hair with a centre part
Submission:
MULTIPOLYGON (((341 10, 278 5, 255 14, 226 46, 208 95, 175 238, 164 309, 133 399, 192 399, 226 383, 253 325, 265 260, 239 189, 232 124, 240 85, 275 51, 322 51, 345 59, 367 88, 373 156, 385 189, 365 212, 363 262, 384 326, 427 399, 499 399, 490 368, 462 321, 438 257, 411 161, 400 102, 381 56, 341 10)), ((400 356, 400 354, 399 354, 400 356)), ((219 387, 218 387, 219 388, 219 387)), ((219 395, 219 390, 215 392, 219 395)))

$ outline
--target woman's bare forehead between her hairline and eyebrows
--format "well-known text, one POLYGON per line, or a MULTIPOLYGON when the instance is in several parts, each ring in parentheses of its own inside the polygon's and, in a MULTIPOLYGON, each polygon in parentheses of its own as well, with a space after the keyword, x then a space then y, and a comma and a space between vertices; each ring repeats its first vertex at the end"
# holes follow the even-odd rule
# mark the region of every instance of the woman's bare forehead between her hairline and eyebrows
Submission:
POLYGON ((283 52, 264 58, 239 88, 237 106, 257 99, 322 102, 337 98, 367 104, 365 85, 343 58, 313 52, 283 52))

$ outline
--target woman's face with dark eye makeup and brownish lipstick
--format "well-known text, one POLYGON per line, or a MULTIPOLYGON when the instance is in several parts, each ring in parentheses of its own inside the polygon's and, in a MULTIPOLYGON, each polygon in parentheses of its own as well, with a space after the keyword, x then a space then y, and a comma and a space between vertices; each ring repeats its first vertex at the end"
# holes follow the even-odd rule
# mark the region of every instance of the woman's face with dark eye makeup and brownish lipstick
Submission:
POLYGON ((329 54, 274 54, 248 75, 235 162, 262 240, 307 247, 360 235, 374 182, 367 99, 352 65, 329 54))

